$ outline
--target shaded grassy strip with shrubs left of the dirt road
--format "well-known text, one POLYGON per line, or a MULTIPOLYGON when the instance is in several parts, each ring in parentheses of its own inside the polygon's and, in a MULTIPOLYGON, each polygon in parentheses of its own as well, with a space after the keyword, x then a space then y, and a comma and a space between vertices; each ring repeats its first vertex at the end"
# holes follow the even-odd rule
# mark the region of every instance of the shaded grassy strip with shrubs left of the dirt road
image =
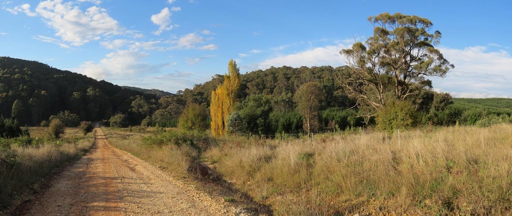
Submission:
POLYGON ((48 128, 32 127, 30 132, 30 139, 0 140, 0 209, 55 168, 79 159, 94 143, 93 133, 83 136, 78 128, 66 128, 58 140, 50 138, 48 128))

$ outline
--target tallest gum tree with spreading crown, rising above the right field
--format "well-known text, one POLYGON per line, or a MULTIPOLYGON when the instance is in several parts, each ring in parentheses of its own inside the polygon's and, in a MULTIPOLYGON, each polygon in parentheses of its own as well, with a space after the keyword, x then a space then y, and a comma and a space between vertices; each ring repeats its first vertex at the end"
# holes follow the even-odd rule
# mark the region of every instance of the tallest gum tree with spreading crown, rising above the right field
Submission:
POLYGON ((349 71, 339 77, 347 93, 372 117, 387 101, 414 100, 429 87, 429 76, 444 77, 454 68, 435 47, 441 33, 429 19, 395 13, 371 16, 373 36, 340 51, 349 71))

